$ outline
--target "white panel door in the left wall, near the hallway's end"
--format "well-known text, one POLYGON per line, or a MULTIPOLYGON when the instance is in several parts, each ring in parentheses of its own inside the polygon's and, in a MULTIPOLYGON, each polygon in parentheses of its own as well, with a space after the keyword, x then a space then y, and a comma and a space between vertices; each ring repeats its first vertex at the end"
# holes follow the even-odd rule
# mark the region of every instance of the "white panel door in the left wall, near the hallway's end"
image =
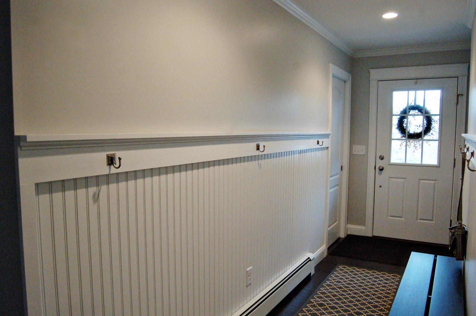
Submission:
POLYGON ((327 246, 339 238, 339 214, 342 174, 342 135, 344 128, 345 82, 332 77, 331 146, 329 148, 330 178, 327 210, 327 246))

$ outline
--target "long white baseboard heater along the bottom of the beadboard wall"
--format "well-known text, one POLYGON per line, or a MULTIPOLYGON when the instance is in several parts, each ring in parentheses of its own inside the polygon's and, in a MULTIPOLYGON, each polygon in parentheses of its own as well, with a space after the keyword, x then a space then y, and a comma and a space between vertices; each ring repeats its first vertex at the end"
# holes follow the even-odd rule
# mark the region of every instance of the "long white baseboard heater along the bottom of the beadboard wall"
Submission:
POLYGON ((261 293, 241 307, 233 316, 265 316, 311 273, 311 261, 315 255, 309 253, 292 268, 271 283, 261 293))

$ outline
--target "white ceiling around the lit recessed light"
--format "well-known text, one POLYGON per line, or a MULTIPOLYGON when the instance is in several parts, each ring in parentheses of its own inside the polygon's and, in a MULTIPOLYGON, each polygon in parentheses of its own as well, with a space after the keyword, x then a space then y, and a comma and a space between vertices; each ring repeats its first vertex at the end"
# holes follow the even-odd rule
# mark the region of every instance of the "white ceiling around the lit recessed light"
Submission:
POLYGON ((475 0, 275 0, 352 56, 469 48, 475 0), (292 1, 292 2, 291 2, 292 1), (382 14, 393 11, 395 19, 382 14))

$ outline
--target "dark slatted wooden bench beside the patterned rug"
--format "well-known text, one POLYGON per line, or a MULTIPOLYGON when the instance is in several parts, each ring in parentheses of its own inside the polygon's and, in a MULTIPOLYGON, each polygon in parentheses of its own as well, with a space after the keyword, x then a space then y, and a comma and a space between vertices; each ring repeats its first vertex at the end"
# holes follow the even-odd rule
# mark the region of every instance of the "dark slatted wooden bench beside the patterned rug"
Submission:
POLYGON ((412 252, 389 316, 464 316, 461 261, 412 252))

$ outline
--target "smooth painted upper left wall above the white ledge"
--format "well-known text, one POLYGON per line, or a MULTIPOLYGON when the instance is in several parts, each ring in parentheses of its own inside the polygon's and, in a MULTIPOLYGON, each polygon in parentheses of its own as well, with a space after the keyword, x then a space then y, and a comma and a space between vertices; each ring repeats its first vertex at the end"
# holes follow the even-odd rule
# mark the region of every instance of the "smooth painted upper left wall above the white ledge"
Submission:
POLYGON ((350 71, 269 0, 73 2, 11 1, 16 135, 325 131, 350 71))

